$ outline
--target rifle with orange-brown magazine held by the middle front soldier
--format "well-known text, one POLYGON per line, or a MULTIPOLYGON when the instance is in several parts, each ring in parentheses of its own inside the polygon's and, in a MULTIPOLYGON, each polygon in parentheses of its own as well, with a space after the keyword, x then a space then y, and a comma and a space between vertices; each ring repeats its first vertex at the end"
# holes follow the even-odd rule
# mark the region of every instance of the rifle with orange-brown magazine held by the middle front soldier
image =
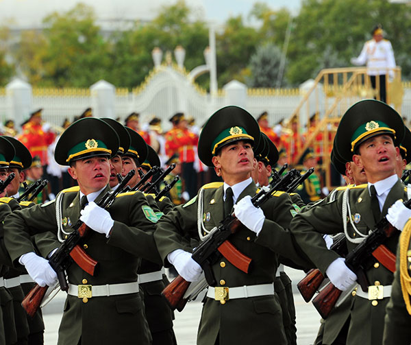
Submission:
MULTIPOLYGON (((251 198, 254 206, 260 207, 266 200, 271 198, 271 194, 275 191, 286 189, 296 177, 301 176, 298 171, 288 171, 277 183, 270 189, 262 188, 251 198)), ((221 254, 230 263, 236 266, 242 272, 249 272, 251 259, 239 252, 227 239, 230 235, 236 233, 242 228, 242 223, 236 218, 234 213, 223 219, 219 226, 216 226, 210 231, 210 235, 195 248, 192 252, 192 259, 196 261, 202 268, 206 281, 209 285, 215 285, 216 279, 212 273, 212 265, 219 260, 221 254)), ((184 298, 186 290, 190 282, 186 281, 182 276, 177 276, 166 288, 162 291, 162 296, 166 298, 171 309, 182 311, 186 305, 187 299, 184 298)))

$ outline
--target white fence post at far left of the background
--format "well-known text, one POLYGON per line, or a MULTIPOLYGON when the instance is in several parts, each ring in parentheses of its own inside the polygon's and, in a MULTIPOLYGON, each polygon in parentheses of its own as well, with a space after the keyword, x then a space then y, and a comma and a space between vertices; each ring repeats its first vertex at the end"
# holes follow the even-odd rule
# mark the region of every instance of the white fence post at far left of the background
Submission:
POLYGON ((28 119, 32 112, 32 86, 21 79, 14 79, 5 86, 7 99, 6 118, 14 120, 16 128, 28 119))

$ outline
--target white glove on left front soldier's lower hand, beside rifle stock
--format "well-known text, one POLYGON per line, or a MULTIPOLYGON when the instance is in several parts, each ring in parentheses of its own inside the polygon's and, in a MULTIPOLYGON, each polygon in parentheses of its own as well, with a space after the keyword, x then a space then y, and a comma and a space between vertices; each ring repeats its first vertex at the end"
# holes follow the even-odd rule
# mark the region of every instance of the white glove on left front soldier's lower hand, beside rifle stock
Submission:
POLYGON ((34 252, 23 254, 18 260, 32 277, 32 279, 40 286, 52 286, 57 281, 57 274, 54 272, 49 261, 39 257, 34 252))

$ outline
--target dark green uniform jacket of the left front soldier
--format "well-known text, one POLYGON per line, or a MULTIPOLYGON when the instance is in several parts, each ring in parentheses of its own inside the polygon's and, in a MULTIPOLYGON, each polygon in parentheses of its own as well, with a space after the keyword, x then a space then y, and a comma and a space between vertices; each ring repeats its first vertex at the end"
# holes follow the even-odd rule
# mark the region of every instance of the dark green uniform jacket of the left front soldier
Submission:
MULTIPOLYGON (((71 231, 80 215, 79 192, 74 190, 62 192, 61 216, 66 232, 71 231)), ((96 202, 108 190, 106 187, 96 202)), ((99 262, 97 274, 90 276, 73 263, 67 270, 69 283, 130 283, 137 281, 140 257, 160 262, 152 235, 153 223, 157 219, 144 195, 140 192, 121 194, 109 211, 114 219, 110 238, 90 230, 84 243, 86 252, 99 262)), ((12 260, 17 261, 22 254, 34 251, 30 236, 41 232, 48 233, 43 239, 36 240, 36 245, 42 256, 47 257, 60 244, 56 236, 55 202, 11 213, 5 220, 5 244, 12 260)), ((67 296, 58 344, 77 344, 80 337, 82 344, 149 344, 150 335, 139 294, 95 297, 87 302, 77 296, 67 296)))

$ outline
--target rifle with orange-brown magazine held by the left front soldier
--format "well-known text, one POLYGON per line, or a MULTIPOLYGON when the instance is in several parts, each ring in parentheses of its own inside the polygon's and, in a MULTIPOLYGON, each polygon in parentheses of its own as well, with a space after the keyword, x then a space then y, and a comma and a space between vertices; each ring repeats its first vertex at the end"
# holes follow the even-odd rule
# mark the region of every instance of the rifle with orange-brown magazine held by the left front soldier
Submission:
MULTIPOLYGON (((110 205, 114 202, 116 195, 121 193, 123 189, 127 186, 129 180, 134 176, 136 171, 132 170, 123 178, 119 187, 115 191, 108 191, 103 195, 103 198, 97 202, 97 205, 103 209, 107 209, 110 205)), ((63 291, 67 291, 69 289, 69 285, 66 281, 66 274, 65 271, 73 261, 77 263, 82 269, 87 272, 88 274, 94 276, 98 262, 92 259, 91 257, 86 254, 84 249, 79 246, 79 242, 84 239, 86 234, 88 233, 88 226, 84 224, 80 219, 77 223, 73 226, 73 231, 67 236, 60 247, 55 250, 53 255, 49 258, 49 264, 55 270, 58 277, 58 282, 60 283, 60 289, 63 291)), ((40 307, 41 301, 44 298, 47 292, 48 286, 45 285, 44 287, 40 287, 40 285, 36 284, 34 287, 29 291, 27 296, 25 296, 21 305, 27 312, 27 314, 31 317, 34 316, 38 307, 40 307)))

